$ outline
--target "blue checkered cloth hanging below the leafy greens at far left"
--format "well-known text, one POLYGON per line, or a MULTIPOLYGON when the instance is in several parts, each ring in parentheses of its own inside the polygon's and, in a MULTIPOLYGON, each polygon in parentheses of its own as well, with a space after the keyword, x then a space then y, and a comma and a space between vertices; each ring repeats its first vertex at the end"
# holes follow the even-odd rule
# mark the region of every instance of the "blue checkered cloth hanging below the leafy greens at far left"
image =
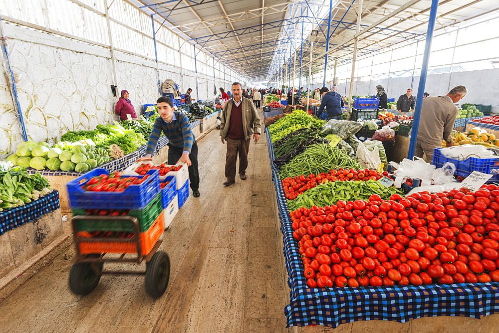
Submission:
POLYGON ((0 235, 59 209, 59 192, 52 192, 24 206, 0 211, 0 235))

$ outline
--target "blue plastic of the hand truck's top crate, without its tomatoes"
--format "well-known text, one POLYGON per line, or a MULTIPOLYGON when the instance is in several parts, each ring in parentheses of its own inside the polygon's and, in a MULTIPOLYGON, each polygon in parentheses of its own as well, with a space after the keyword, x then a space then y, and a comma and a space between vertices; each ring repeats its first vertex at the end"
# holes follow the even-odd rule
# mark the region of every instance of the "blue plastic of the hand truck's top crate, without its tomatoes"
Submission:
POLYGON ((160 190, 157 169, 149 170, 146 175, 150 176, 143 183, 130 185, 123 192, 93 192, 81 188, 90 178, 103 173, 108 174, 109 171, 93 169, 66 184, 72 209, 144 209, 160 190))

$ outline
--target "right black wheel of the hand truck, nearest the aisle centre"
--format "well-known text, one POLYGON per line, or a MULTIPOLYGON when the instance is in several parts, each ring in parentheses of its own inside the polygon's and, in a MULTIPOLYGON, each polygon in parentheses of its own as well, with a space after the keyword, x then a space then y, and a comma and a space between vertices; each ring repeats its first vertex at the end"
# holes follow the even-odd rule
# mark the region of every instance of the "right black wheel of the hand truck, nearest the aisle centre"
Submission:
POLYGON ((163 251, 156 252, 146 267, 146 292, 152 298, 161 297, 170 280, 170 258, 163 251))

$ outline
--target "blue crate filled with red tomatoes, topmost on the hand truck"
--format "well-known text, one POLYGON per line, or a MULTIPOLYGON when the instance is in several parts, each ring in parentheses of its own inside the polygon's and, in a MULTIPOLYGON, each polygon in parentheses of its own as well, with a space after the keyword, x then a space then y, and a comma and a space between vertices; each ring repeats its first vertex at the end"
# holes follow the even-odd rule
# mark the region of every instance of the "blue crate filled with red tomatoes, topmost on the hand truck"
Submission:
POLYGON ((159 172, 122 175, 93 169, 66 184, 71 209, 143 209, 159 193, 159 172))

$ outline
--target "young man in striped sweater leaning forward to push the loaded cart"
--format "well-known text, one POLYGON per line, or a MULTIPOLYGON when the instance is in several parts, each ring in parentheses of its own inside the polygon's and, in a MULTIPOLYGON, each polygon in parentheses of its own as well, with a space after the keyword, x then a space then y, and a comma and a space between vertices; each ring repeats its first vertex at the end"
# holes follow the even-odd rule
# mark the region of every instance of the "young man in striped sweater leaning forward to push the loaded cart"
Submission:
POLYGON ((156 102, 159 117, 154 122, 153 130, 147 142, 146 155, 137 162, 151 163, 154 150, 158 145, 161 132, 168 138, 168 164, 185 163, 189 170, 192 194, 199 197, 198 144, 191 131, 189 118, 183 112, 175 111, 173 101, 160 97, 156 102))

